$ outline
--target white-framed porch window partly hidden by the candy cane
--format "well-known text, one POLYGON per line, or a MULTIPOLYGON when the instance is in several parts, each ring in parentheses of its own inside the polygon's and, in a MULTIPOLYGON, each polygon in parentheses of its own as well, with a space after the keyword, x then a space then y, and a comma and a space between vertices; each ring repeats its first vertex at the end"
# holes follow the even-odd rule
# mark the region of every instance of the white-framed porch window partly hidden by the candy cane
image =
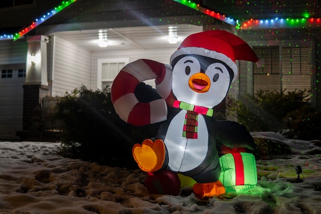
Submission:
POLYGON ((129 63, 129 58, 98 59, 97 62, 97 88, 102 89, 106 85, 111 87, 119 71, 129 63))

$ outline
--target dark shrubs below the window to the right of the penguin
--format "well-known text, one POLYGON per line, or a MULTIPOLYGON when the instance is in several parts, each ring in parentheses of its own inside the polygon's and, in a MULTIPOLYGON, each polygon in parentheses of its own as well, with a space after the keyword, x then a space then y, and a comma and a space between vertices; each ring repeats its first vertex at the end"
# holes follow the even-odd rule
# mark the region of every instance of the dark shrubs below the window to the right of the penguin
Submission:
MULTIPOLYGON (((307 90, 258 91, 228 102, 228 109, 249 131, 293 130, 302 139, 317 139, 320 113, 309 104, 307 90)), ((319 138, 319 137, 318 137, 319 138)))

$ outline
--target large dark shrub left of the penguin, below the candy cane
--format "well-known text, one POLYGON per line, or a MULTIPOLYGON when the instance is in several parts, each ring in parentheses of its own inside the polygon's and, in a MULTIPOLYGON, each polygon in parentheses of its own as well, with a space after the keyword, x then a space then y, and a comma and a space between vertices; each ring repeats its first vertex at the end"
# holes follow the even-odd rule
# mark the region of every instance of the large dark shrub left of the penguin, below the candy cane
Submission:
POLYGON ((121 120, 111 102, 110 88, 85 86, 57 99, 55 117, 62 124, 62 155, 110 166, 136 166, 134 143, 156 135, 157 124, 135 127, 121 120))

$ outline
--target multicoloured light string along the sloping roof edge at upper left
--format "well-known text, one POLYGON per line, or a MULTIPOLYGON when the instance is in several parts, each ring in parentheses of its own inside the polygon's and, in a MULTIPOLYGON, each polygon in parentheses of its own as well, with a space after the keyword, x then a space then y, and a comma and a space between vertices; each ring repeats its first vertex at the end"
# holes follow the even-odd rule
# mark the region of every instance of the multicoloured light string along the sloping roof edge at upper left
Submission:
POLYGON ((40 16, 39 18, 35 19, 29 26, 27 26, 27 27, 21 29, 19 32, 15 33, 12 36, 13 40, 17 40, 18 38, 21 38, 23 35, 25 35, 29 31, 33 30, 38 25, 44 23, 50 17, 52 17, 53 15, 57 14, 58 12, 64 10, 65 8, 67 8, 71 4, 75 3, 76 1, 77 0, 66 0, 66 1, 61 2, 58 6, 56 6, 55 8, 50 10, 49 12, 47 12, 47 13, 43 14, 42 16, 40 16))

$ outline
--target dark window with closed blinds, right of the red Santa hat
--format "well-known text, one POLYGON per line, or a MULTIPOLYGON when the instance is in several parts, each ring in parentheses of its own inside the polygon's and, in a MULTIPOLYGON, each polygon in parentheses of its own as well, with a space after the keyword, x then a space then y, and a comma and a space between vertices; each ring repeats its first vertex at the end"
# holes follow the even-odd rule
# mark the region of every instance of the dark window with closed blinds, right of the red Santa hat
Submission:
POLYGON ((310 47, 265 46, 253 47, 253 50, 258 58, 265 61, 263 68, 253 66, 254 93, 258 90, 289 92, 311 89, 310 47))

